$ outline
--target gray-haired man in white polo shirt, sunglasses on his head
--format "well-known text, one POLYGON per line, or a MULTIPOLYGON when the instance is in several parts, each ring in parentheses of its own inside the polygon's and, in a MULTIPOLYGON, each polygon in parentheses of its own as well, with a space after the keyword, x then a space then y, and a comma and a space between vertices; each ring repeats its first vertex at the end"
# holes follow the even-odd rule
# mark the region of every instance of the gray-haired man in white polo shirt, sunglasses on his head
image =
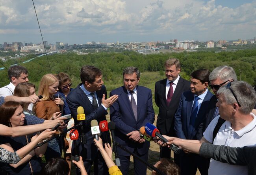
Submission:
MULTIPOLYGON (((175 144, 173 140, 180 140, 193 143, 208 142, 230 147, 256 146, 256 116, 250 113, 256 103, 256 93, 252 86, 243 81, 228 82, 218 90, 217 97, 219 100, 216 106, 219 108, 220 117, 226 122, 222 124, 214 140, 213 130, 219 116, 211 121, 201 140, 164 136, 170 141, 168 144, 175 144)), ((162 143, 158 141, 158 144, 162 143)), ((247 173, 247 166, 230 165, 213 159, 210 161, 208 170, 209 175, 247 175, 247 173)))

